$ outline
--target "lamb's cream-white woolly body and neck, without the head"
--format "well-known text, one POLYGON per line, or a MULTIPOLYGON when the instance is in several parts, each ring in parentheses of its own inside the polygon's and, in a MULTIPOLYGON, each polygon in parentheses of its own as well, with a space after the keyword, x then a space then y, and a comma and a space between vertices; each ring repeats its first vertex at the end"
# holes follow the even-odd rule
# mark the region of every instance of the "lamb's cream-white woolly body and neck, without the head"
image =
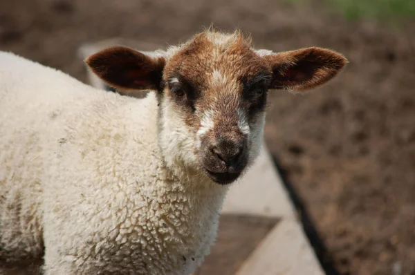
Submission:
POLYGON ((0 274, 43 245, 44 274, 194 272, 228 188, 167 169, 158 126, 154 93, 100 91, 0 52, 0 274))

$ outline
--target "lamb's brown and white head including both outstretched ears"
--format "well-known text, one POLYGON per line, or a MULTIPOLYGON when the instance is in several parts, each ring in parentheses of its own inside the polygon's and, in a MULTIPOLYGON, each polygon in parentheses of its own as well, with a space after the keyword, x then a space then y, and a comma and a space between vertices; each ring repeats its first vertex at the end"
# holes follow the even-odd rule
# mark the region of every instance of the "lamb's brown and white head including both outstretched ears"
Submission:
POLYGON ((323 48, 255 50, 239 32, 211 31, 166 51, 118 46, 86 60, 110 86, 156 90, 158 142, 167 165, 220 184, 236 180, 257 157, 268 89, 314 88, 346 62, 323 48))

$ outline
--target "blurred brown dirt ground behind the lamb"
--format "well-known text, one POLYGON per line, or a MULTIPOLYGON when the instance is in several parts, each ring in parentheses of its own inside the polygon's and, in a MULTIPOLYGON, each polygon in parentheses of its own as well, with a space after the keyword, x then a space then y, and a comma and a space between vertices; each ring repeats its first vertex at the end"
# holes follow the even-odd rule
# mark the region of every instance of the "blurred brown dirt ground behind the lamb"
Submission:
POLYGON ((0 0, 0 7, 0 50, 82 81, 76 50, 86 41, 176 44, 211 23, 251 32, 258 48, 344 53, 347 69, 323 88, 270 91, 266 142, 341 274, 415 274, 413 25, 391 31, 269 0, 0 0))

